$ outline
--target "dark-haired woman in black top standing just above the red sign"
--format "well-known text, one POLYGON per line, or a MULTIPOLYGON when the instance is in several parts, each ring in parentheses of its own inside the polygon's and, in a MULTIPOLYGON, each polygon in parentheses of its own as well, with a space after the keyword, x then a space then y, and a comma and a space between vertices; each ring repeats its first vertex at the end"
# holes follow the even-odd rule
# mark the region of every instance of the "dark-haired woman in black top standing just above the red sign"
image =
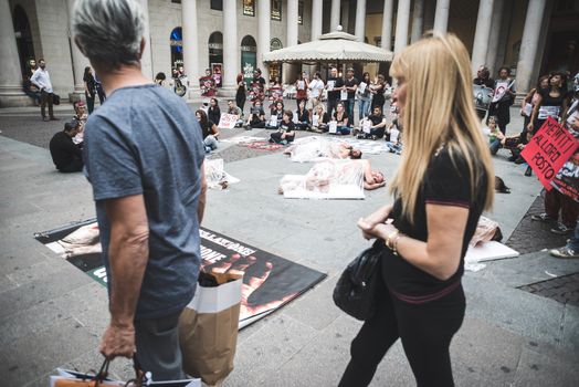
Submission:
POLYGON ((530 122, 527 125, 528 132, 534 134, 549 117, 552 117, 555 121, 559 121, 562 117, 568 104, 566 83, 565 74, 561 72, 554 72, 549 75, 549 87, 548 90, 539 91, 530 122))

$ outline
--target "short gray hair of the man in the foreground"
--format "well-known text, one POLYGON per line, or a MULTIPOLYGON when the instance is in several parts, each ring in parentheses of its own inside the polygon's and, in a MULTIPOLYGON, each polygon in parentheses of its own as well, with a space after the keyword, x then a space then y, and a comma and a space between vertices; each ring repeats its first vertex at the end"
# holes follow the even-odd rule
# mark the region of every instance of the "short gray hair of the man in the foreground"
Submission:
POLYGON ((135 0, 76 0, 71 20, 81 51, 103 70, 139 63, 145 17, 135 0))

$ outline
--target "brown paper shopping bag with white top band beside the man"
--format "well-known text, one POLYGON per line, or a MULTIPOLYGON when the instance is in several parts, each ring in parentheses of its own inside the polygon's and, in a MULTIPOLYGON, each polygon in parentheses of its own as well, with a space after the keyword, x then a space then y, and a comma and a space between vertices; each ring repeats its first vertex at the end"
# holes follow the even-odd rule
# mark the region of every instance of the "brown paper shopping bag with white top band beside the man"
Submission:
POLYGON ((202 273, 193 300, 179 317, 183 370, 208 385, 222 381, 233 370, 242 278, 238 273, 202 273), (207 276, 213 279, 214 286, 203 285, 207 276))

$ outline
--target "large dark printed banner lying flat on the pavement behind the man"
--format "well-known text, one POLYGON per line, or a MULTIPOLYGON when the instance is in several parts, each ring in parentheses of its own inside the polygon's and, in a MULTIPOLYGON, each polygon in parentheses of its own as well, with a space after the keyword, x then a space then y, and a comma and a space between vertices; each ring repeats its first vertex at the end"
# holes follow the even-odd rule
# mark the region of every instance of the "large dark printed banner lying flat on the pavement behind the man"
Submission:
MULTIPOLYGON (((240 328, 296 299, 326 276, 208 229, 201 229, 200 236, 203 270, 244 272, 240 328)), ((106 286, 95 220, 39 232, 35 239, 106 286)))

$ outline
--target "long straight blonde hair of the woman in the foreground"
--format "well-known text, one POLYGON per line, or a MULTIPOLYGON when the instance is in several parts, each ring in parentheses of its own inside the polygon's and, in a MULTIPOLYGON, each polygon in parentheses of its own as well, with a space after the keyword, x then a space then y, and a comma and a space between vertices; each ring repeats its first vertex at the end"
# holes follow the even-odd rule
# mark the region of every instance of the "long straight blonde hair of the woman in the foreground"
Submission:
POLYGON ((428 34, 398 53, 390 75, 403 77, 407 98, 402 117, 404 151, 390 190, 402 201, 402 212, 413 213, 424 174, 435 151, 444 145, 451 157, 461 154, 471 176, 471 196, 486 172, 486 202, 494 199, 493 165, 473 103, 471 62, 454 34, 428 34), (476 158, 476 159, 475 159, 476 158))

